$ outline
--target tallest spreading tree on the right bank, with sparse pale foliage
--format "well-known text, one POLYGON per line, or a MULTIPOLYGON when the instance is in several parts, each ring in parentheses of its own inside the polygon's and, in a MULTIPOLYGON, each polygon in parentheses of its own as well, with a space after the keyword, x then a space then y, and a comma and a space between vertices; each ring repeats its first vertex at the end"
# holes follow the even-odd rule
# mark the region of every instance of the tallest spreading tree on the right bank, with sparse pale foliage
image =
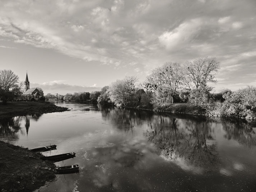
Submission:
POLYGON ((217 83, 214 78, 219 66, 220 62, 215 57, 199 57, 185 62, 182 70, 183 81, 196 105, 202 105, 209 99, 212 87, 207 84, 217 83))

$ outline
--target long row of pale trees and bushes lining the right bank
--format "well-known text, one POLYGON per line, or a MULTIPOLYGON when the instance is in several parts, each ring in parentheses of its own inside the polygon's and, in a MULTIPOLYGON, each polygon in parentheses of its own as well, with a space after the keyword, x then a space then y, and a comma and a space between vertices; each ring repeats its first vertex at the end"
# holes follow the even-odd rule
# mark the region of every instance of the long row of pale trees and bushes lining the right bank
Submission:
POLYGON ((217 83, 219 67, 215 57, 199 57, 184 64, 167 62, 155 68, 143 83, 135 76, 116 80, 102 89, 97 100, 160 111, 256 118, 255 86, 211 93, 209 83, 217 83))

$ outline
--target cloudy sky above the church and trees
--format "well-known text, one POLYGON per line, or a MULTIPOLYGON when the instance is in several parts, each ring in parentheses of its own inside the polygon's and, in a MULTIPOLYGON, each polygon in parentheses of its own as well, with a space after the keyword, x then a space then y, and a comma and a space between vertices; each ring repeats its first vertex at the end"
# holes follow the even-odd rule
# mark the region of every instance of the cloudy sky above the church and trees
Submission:
POLYGON ((256 0, 0 0, 0 69, 44 93, 101 90, 216 57, 215 91, 256 85, 256 0))

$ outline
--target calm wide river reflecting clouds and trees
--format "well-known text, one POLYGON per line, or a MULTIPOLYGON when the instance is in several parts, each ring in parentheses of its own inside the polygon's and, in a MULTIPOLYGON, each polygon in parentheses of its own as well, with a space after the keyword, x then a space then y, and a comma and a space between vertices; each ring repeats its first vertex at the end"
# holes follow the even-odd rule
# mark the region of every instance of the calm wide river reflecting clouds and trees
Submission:
POLYGON ((0 139, 75 152, 41 192, 256 191, 256 122, 56 102, 71 111, 0 120, 0 139))

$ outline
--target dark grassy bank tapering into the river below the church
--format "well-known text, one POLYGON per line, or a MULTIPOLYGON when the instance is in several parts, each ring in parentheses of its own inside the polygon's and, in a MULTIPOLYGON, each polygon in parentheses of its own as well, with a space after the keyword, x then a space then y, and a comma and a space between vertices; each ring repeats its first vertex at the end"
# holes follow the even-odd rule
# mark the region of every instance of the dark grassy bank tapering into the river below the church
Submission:
POLYGON ((57 107, 49 102, 7 102, 2 105, 0 102, 0 117, 23 116, 33 113, 52 113, 68 111, 66 107, 57 107))

